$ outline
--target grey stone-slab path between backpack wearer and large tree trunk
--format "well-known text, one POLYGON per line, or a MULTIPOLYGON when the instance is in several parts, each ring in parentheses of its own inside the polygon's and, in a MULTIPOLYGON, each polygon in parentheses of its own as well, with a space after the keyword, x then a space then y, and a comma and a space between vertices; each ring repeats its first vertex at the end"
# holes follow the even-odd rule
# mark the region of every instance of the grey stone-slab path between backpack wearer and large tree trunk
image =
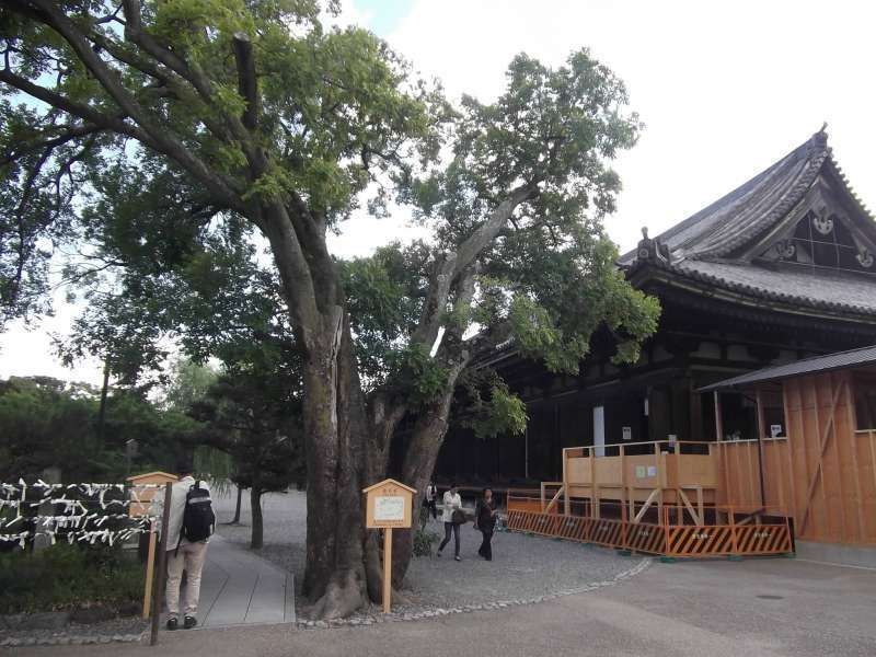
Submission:
POLYGON ((292 574, 214 535, 201 575, 198 616, 201 627, 293 623, 292 574))

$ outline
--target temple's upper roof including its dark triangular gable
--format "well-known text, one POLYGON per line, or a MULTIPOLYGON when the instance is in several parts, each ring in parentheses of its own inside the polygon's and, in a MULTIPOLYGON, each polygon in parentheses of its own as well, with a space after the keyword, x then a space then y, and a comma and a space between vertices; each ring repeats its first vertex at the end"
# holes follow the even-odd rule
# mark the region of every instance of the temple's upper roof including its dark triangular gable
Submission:
POLYGON ((791 310, 876 315, 876 221, 833 160, 823 128, 657 238, 643 234, 619 262, 639 281, 654 266, 791 310))

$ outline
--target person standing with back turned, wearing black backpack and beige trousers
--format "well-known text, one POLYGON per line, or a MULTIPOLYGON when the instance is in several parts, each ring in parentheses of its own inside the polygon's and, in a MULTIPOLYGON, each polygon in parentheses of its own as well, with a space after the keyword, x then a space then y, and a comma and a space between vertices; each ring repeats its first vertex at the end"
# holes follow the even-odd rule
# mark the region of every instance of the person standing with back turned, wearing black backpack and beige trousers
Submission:
POLYGON ((180 481, 171 491, 168 525, 168 630, 180 626, 180 583, 186 573, 183 627, 197 625, 200 572, 207 556, 207 543, 216 528, 210 489, 192 476, 191 462, 182 460, 176 468, 180 481))

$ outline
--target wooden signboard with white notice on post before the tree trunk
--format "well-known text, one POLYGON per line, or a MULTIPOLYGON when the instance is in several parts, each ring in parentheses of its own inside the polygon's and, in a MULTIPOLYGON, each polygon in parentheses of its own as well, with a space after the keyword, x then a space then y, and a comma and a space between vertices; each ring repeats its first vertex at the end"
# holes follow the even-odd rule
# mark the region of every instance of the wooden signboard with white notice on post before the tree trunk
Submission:
POLYGON ((390 612, 392 596, 392 530, 410 529, 416 491, 395 480, 368 486, 365 493, 366 527, 383 530, 383 613, 390 612))

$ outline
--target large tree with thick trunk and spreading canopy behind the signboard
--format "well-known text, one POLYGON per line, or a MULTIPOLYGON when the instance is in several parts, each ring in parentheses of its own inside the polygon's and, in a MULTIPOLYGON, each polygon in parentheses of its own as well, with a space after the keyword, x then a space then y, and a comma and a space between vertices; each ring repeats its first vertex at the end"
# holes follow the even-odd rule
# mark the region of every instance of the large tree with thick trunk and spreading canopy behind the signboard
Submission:
MULTIPOLYGON (((587 51, 555 69, 519 56, 499 99, 451 108, 387 44, 326 30, 319 10, 4 2, 0 291, 33 308, 47 240, 112 238, 160 277, 217 220, 258 231, 301 357, 304 593, 313 615, 337 616, 379 597, 359 491, 387 472, 405 415, 397 474, 422 488, 477 349, 511 337, 575 371, 604 325, 618 359, 635 360, 658 309, 616 272, 602 230, 620 188, 608 162, 639 129, 608 68, 587 51), (431 239, 339 266, 326 234, 366 191, 374 211, 397 192, 431 239)), ((404 539, 397 554, 402 575, 404 539)))

